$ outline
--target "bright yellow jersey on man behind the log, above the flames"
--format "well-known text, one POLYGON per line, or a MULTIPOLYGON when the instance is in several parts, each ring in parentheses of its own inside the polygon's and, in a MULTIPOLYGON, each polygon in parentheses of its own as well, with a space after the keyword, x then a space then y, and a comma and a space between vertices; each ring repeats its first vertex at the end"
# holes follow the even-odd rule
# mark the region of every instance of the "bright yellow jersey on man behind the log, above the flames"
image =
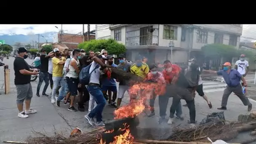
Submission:
POLYGON ((137 67, 136 64, 133 64, 130 70, 132 74, 145 78, 149 73, 149 66, 146 63, 142 62, 141 67, 137 67))

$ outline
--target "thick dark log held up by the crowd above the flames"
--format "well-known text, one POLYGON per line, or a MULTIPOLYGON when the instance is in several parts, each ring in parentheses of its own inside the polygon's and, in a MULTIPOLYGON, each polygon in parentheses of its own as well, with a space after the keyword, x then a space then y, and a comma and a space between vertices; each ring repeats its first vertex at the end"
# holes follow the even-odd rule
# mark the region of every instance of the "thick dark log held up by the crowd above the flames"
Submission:
POLYGON ((112 68, 111 77, 117 80, 127 80, 133 82, 141 82, 143 79, 137 75, 133 75, 131 72, 126 72, 123 69, 112 68))

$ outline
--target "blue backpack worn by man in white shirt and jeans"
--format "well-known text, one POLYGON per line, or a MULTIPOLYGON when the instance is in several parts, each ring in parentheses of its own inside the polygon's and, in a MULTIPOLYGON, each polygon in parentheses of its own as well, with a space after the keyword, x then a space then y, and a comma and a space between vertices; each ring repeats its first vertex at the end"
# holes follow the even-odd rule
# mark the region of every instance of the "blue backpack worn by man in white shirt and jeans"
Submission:
POLYGON ((96 65, 96 67, 89 73, 91 68, 91 64, 88 65, 87 67, 84 67, 80 73, 79 73, 79 81, 80 84, 88 85, 91 77, 91 73, 95 71, 95 69, 99 68, 99 64, 96 65))

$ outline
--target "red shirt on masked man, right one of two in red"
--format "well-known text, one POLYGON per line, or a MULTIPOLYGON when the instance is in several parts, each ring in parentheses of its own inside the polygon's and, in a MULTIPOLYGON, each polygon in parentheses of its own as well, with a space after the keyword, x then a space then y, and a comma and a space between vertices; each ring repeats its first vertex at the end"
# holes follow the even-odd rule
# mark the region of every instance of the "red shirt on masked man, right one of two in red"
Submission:
MULTIPOLYGON (((168 68, 168 67, 167 67, 168 68)), ((166 83, 170 84, 173 81, 173 77, 177 78, 179 77, 179 72, 181 71, 181 68, 176 64, 171 64, 171 72, 167 72, 166 69, 163 70, 163 76, 165 78, 166 83)), ((176 80, 173 82, 175 83, 176 80)))

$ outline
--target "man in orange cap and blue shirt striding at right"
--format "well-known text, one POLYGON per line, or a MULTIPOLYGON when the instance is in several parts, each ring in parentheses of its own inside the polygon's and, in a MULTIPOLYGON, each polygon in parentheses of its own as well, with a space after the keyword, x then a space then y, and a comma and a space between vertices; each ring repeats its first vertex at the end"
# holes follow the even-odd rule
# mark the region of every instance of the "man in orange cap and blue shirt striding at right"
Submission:
POLYGON ((240 84, 240 80, 242 80, 243 86, 247 86, 245 78, 236 69, 231 69, 231 67, 232 66, 229 62, 225 62, 223 64, 222 70, 203 70, 203 72, 210 73, 213 75, 222 75, 225 82, 227 83, 227 87, 224 90, 222 96, 221 107, 218 109, 227 109, 227 100, 229 98, 229 95, 233 92, 241 99, 245 106, 248 106, 248 111, 251 111, 252 104, 250 103, 249 99, 243 94, 242 86, 240 84))

